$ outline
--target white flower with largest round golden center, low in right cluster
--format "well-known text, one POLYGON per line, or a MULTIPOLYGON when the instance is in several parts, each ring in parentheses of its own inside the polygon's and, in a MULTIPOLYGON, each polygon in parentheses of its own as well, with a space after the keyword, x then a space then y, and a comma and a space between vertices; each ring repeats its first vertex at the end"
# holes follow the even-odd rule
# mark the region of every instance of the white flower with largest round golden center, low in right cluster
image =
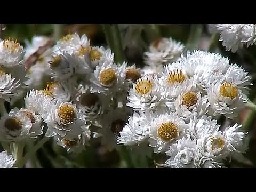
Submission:
POLYGON ((176 113, 165 113, 151 119, 149 132, 149 146, 154 147, 154 153, 161 153, 177 140, 188 137, 188 124, 176 113))

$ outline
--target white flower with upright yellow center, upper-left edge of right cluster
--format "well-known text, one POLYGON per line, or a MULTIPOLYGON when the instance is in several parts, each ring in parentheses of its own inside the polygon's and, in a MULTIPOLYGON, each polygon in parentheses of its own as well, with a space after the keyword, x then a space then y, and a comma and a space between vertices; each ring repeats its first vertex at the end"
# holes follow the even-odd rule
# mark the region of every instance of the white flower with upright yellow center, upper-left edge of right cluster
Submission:
POLYGON ((128 91, 126 104, 134 110, 162 110, 165 109, 165 98, 167 91, 164 86, 159 84, 157 76, 146 75, 139 78, 133 87, 128 91))

